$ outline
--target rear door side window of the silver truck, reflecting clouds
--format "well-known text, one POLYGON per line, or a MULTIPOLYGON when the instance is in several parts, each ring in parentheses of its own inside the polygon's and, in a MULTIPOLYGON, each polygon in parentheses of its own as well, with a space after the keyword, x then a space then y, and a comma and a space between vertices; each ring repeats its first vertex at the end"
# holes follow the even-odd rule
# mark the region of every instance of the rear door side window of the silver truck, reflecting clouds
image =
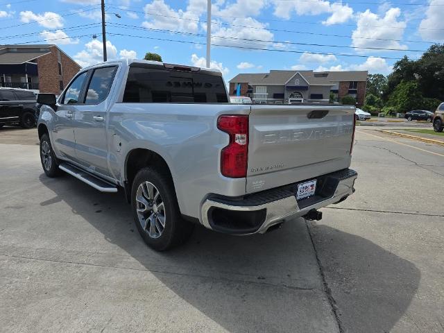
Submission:
POLYGON ((85 104, 99 104, 105 101, 117 67, 102 67, 94 70, 86 94, 85 104))

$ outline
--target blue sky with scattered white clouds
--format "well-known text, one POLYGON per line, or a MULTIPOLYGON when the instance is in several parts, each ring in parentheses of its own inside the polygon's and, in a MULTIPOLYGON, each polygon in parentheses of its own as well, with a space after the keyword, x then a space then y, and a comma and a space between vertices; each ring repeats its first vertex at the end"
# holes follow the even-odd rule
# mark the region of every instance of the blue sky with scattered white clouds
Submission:
MULTIPOLYGON (((159 53, 205 67, 207 0, 105 0, 108 60, 159 53)), ((389 74, 444 42, 444 0, 212 0, 211 67, 225 80, 270 69, 389 74)), ((102 61, 100 0, 0 0, 1 44, 58 44, 102 61)))

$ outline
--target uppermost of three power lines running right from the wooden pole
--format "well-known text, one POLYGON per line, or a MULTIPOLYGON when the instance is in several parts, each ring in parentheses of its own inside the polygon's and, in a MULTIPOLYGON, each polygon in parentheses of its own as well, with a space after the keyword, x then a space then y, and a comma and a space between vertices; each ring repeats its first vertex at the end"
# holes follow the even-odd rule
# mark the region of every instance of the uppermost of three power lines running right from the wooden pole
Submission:
MULTIPOLYGON (((126 10, 128 12, 139 12, 139 13, 145 13, 142 11, 137 11, 137 10, 127 10, 127 9, 121 9, 121 10, 126 10)), ((155 14, 155 13, 151 13, 151 12, 147 12, 147 14, 149 15, 153 15, 153 16, 160 16, 160 17, 169 17, 171 19, 184 19, 187 21, 194 21, 194 22, 201 22, 201 23, 207 23, 206 21, 200 20, 200 19, 187 19, 185 17, 174 17, 174 16, 169 16, 169 15, 161 15, 161 14, 155 14)), ((241 18, 241 17, 239 17, 241 18)), ((435 42, 430 42, 430 41, 420 41, 420 40, 395 40, 395 39, 390 39, 390 38, 374 38, 374 37, 355 37, 355 36, 351 36, 351 35, 336 35, 336 34, 329 34, 329 33, 312 33, 309 31, 295 31, 295 30, 287 30, 287 29, 276 29, 276 28, 264 28, 264 27, 257 27, 257 26, 244 26, 241 24, 229 24, 229 23, 224 23, 224 22, 212 22, 212 24, 219 24, 221 26, 235 26, 235 27, 239 27, 239 28, 250 28, 250 29, 259 29, 259 30, 268 30, 268 31, 278 31, 278 32, 282 32, 282 33, 299 33, 299 34, 305 34, 305 35, 319 35, 319 36, 327 36, 327 37, 345 37, 345 38, 356 38, 356 39, 361 39, 361 40, 383 40, 383 41, 388 41, 388 42, 410 42, 410 43, 427 43, 427 44, 434 44, 435 42)))

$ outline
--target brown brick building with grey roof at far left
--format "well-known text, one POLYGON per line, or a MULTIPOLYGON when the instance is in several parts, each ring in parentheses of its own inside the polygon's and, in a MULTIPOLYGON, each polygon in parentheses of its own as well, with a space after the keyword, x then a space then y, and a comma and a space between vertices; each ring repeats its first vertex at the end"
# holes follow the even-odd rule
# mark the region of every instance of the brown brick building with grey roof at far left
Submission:
POLYGON ((56 45, 0 45, 0 87, 60 94, 79 69, 56 45))

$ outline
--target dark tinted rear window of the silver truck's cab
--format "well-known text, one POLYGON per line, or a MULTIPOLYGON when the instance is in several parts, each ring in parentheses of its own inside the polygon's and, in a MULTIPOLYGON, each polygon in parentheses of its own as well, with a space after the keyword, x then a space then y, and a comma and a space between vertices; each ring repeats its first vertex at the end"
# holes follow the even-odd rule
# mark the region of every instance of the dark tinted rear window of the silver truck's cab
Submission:
POLYGON ((221 76, 130 67, 123 103, 228 103, 221 76))

